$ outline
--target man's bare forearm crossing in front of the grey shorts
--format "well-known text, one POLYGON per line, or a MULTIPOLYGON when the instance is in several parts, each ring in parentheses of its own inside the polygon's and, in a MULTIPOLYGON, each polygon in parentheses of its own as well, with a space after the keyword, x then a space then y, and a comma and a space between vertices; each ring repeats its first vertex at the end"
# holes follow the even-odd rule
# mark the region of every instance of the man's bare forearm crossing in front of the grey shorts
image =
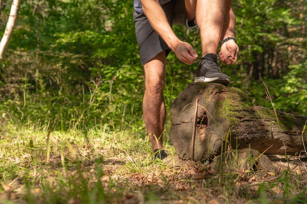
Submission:
POLYGON ((175 35, 171 26, 167 22, 165 13, 159 3, 159 0, 141 0, 143 11, 153 29, 173 49, 177 45, 179 39, 175 35))

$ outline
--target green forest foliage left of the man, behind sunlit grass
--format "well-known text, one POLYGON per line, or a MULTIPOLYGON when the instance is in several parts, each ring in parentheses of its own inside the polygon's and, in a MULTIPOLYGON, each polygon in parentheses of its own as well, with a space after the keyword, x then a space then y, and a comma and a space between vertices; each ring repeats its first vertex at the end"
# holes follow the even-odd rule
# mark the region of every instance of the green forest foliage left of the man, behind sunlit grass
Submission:
POLYGON ((139 121, 144 79, 132 2, 28 0, 22 8, 9 50, 15 54, 2 64, 2 93, 9 91, 1 109, 47 128, 54 120, 61 129, 139 121))

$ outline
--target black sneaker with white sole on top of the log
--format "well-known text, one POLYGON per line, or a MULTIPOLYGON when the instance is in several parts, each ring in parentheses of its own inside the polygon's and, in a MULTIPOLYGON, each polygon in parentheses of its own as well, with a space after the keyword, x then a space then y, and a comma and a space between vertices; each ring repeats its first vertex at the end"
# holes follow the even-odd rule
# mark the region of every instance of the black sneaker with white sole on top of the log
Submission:
POLYGON ((194 82, 230 84, 229 76, 223 74, 217 64, 216 54, 206 54, 198 64, 194 82))

